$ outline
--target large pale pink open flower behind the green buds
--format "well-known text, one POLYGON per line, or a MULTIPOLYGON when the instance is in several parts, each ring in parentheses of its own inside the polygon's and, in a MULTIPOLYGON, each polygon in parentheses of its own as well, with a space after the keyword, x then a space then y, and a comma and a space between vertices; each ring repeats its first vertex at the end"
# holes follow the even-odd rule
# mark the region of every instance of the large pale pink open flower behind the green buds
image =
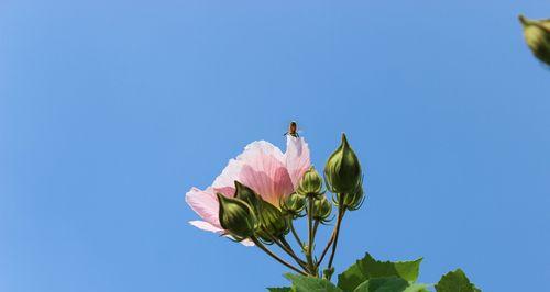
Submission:
MULTIPOLYGON (((304 172, 309 169, 309 148, 304 138, 287 136, 286 153, 265 141, 249 144, 237 159, 229 160, 221 175, 206 190, 191 188, 185 201, 202 218, 189 222, 193 226, 218 234, 223 233, 218 220, 216 193, 234 195, 234 181, 258 193, 275 206, 279 199, 294 192, 304 172)), ((250 240, 244 245, 253 245, 250 240)))

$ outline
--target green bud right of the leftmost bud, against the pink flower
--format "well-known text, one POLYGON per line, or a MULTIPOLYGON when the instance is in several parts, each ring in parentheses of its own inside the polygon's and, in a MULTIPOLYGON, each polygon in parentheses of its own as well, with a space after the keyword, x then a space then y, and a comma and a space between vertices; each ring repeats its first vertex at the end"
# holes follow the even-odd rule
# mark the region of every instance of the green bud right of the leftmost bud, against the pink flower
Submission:
POLYGON ((273 243, 273 238, 279 238, 289 231, 288 222, 280 210, 263 200, 258 217, 260 228, 256 234, 267 244, 273 243))

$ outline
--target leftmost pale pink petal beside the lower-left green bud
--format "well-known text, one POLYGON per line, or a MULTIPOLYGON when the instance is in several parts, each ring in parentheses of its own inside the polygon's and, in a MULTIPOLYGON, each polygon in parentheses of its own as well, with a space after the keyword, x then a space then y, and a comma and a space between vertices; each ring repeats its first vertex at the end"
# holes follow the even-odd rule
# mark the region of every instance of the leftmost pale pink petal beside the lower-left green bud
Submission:
POLYGON ((221 228, 218 218, 218 198, 216 196, 212 188, 208 188, 206 191, 191 188, 191 190, 186 193, 185 201, 202 220, 210 223, 215 227, 221 228))

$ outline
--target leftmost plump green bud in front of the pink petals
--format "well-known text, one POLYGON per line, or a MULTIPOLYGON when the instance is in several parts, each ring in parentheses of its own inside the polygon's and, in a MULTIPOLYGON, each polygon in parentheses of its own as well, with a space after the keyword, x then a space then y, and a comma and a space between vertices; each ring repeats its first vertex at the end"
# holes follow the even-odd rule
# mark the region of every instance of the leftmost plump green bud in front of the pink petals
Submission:
POLYGON ((238 242, 250 238, 257 225, 254 212, 244 201, 218 193, 220 225, 238 242))

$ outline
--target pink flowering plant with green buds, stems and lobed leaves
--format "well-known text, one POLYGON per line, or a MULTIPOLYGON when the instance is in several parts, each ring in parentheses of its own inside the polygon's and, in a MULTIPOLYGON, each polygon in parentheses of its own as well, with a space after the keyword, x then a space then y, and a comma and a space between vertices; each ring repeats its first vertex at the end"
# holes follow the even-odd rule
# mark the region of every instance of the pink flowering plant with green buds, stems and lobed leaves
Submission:
POLYGON ((293 271, 285 274, 292 287, 268 288, 270 291, 481 291, 460 269, 444 274, 436 284, 417 283, 421 258, 392 262, 376 260, 370 254, 340 273, 337 284, 332 283, 342 221, 365 200, 363 170, 343 134, 322 178, 311 166, 308 144, 295 127, 293 122, 286 153, 267 142, 254 142, 229 161, 211 187, 191 188, 186 202, 202 220, 190 224, 245 246, 256 246, 293 271), (307 221, 305 237, 295 228, 295 221, 300 218, 307 221), (316 250, 318 228, 332 222, 334 226, 324 247, 316 250), (293 246, 287 237, 294 237, 296 244, 293 246), (286 257, 273 251, 273 245, 286 257))

